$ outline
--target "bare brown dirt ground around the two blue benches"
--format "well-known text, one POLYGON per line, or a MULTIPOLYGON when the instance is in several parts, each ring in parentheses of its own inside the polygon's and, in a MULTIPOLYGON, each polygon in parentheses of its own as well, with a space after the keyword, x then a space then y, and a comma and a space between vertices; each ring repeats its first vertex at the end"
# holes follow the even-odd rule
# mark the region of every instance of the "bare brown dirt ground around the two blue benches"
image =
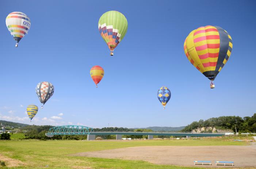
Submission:
MULTIPOLYGON (((194 161, 233 161, 230 167, 256 168, 256 145, 250 146, 139 146, 96 152, 77 153, 74 156, 144 160, 154 164, 195 166, 194 161)), ((196 165, 202 166, 202 165, 196 165)), ((224 167, 218 165, 217 167, 224 167)), ((228 167, 228 166, 225 166, 228 167)))

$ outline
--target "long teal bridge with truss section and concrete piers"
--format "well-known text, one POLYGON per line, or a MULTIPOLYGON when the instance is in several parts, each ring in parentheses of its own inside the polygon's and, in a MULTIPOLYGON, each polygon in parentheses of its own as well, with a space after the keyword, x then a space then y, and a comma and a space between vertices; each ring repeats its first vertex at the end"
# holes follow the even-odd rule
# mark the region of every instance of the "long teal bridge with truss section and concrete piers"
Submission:
POLYGON ((148 135, 148 138, 152 139, 153 135, 173 135, 178 137, 218 137, 225 135, 225 133, 93 132, 92 127, 66 125, 50 128, 45 135, 48 137, 53 137, 54 135, 87 135, 87 140, 93 140, 95 139, 96 135, 116 135, 116 139, 122 139, 122 135, 148 135))

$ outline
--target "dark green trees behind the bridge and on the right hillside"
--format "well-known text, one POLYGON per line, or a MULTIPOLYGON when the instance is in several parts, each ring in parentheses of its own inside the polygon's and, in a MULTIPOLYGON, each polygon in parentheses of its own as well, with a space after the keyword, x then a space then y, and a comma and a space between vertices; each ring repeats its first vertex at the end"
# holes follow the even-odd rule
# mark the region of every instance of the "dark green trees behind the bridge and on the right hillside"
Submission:
MULTIPOLYGON (((54 137, 47 137, 45 133, 54 126, 37 126, 27 125, 19 126, 18 133, 24 133, 25 139, 76 139, 82 140, 87 139, 87 135, 54 135, 54 137)), ((190 132, 191 130, 198 129, 200 127, 215 127, 218 129, 231 129, 234 132, 239 133, 256 133, 256 113, 252 117, 239 117, 239 116, 221 116, 216 118, 209 118, 207 120, 194 121, 190 125, 187 125, 182 132, 190 132)), ((124 127, 103 127, 93 129, 95 132, 152 132, 151 129, 129 129, 124 127)), ((208 131, 211 132, 211 131, 208 131)), ((0 139, 9 139, 9 134, 1 135, 0 139)), ((115 139, 115 135, 96 135, 102 139, 115 139)), ((147 136, 142 135, 124 135, 126 138, 146 138, 147 136)), ((159 136, 159 138, 162 138, 159 136)))

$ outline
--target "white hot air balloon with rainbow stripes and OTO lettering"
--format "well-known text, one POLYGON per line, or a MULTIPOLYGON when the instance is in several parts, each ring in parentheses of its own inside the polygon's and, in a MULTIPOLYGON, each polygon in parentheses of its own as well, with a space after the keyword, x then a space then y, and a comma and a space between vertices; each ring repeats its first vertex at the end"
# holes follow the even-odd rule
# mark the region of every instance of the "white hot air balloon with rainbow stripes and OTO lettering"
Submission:
POLYGON ((12 12, 6 17, 5 23, 14 40, 17 41, 15 47, 18 47, 18 43, 27 34, 31 26, 29 17, 22 12, 12 12))

